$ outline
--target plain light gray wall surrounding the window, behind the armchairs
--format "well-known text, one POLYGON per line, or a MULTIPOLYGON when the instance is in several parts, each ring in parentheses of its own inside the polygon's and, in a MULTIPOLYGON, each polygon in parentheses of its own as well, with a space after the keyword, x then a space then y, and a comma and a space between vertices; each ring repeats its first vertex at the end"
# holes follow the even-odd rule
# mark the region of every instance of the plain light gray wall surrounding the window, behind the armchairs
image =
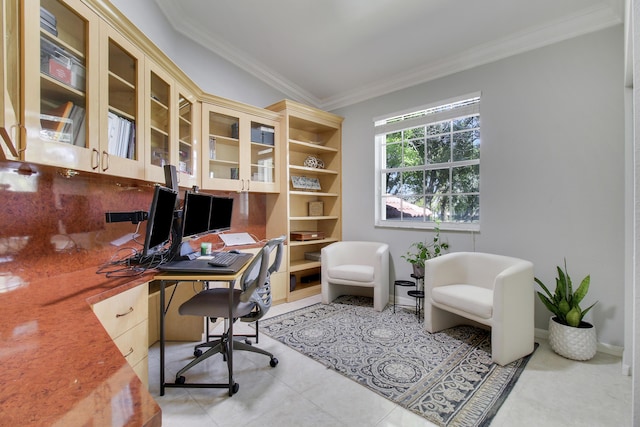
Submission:
MULTIPOLYGON (((622 78, 619 26, 335 111, 345 117, 344 239, 389 243, 395 277, 409 277, 400 256, 430 233, 374 227, 372 119, 481 91, 481 230, 443 236, 452 251, 531 260, 551 286, 566 257, 574 282, 591 274, 587 302, 599 303, 587 320, 599 341, 623 346, 622 78)), ((536 327, 547 329, 536 304, 536 327)))

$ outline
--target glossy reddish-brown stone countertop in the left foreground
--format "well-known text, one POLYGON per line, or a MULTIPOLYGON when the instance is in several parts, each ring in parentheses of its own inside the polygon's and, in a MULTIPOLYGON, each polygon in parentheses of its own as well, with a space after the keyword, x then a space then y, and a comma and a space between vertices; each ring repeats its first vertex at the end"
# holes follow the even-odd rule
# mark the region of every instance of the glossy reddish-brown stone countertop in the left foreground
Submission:
POLYGON ((160 426, 160 407, 91 309, 153 273, 108 279, 91 268, 0 293, 0 424, 160 426))

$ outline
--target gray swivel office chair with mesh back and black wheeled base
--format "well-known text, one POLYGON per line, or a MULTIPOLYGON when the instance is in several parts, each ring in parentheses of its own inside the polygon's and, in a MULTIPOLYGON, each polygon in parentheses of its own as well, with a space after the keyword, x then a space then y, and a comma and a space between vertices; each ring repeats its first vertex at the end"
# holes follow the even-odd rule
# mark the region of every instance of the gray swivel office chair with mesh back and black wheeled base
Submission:
MULTIPOLYGON (((229 395, 233 395, 239 389, 239 385, 233 382, 233 350, 251 351, 269 356, 269 364, 275 367, 278 364, 273 354, 261 348, 254 347, 249 341, 239 342, 233 337, 233 323, 240 319, 244 322, 256 322, 256 334, 251 337, 258 338, 258 320, 261 319, 271 307, 271 273, 280 268, 282 261, 284 236, 272 239, 251 260, 240 279, 240 289, 214 288, 205 289, 183 303, 178 312, 187 316, 202 316, 207 318, 223 318, 227 329, 219 337, 196 346, 196 356, 189 364, 176 374, 176 383, 184 384, 186 379, 183 374, 193 366, 205 359, 222 354, 227 362, 229 372, 229 395), (276 250, 275 258, 271 261, 271 254, 276 250), (201 349, 207 348, 203 353, 201 349)), ((208 339, 209 337, 207 337, 208 339)))

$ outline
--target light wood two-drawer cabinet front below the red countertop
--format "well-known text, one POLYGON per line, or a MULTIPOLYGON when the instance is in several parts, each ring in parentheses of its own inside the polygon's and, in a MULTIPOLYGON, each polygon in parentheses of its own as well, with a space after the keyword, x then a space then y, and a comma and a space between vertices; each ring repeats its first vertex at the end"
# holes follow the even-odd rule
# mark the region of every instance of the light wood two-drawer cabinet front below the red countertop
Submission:
POLYGON ((93 305, 96 317, 147 388, 148 293, 144 283, 93 305))

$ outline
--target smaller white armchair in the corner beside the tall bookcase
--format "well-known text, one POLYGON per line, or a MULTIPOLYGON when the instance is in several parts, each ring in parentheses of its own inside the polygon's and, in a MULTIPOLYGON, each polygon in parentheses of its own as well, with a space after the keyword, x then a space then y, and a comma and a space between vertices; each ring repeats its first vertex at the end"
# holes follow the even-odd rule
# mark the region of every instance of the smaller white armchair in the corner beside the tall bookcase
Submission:
POLYGON ((335 242, 322 248, 322 302, 340 295, 373 296, 382 311, 389 302, 389 245, 376 242, 335 242))

